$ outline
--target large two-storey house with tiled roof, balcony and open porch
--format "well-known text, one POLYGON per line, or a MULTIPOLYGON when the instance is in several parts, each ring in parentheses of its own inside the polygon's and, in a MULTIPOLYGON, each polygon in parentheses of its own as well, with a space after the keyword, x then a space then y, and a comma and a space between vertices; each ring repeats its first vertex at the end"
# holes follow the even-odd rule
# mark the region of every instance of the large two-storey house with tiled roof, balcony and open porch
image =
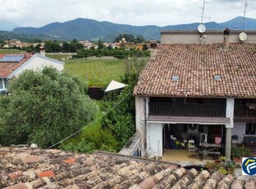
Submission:
POLYGON ((232 142, 255 142, 256 33, 241 32, 161 32, 134 90, 142 154, 162 157, 172 139, 200 145, 202 134, 220 137, 227 158, 232 142))

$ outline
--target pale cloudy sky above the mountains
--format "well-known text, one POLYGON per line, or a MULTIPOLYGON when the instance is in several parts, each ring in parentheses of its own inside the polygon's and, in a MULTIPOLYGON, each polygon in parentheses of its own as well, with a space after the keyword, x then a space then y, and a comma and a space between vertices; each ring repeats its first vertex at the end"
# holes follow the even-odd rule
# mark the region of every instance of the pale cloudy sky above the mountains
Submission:
MULTIPOLYGON (((204 22, 244 15, 244 0, 208 0, 204 22)), ((256 18, 256 1, 246 16, 256 18)), ((90 18, 129 25, 176 25, 201 21, 200 0, 0 0, 1 20, 40 27, 51 22, 90 18)))

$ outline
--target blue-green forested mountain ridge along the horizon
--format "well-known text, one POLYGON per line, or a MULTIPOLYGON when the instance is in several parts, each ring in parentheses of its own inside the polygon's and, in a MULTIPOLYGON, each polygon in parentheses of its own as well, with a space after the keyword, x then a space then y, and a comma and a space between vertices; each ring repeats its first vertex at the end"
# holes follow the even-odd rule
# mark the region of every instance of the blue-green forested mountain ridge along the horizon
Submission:
MULTIPOLYGON (((215 21, 206 22, 206 30, 223 30, 225 27, 237 30, 243 28, 243 16, 235 17, 230 21, 217 23, 215 21), (242 22, 241 22, 242 21, 242 22)), ((116 24, 110 21, 95 21, 88 18, 76 18, 72 21, 63 23, 53 22, 39 28, 17 27, 14 33, 23 35, 46 35, 56 39, 78 39, 78 40, 97 40, 112 41, 115 36, 126 33, 131 35, 143 35, 145 39, 160 39, 160 30, 197 30, 199 22, 181 25, 126 25, 116 24)), ((256 30, 256 19, 246 18, 246 30, 256 30)))

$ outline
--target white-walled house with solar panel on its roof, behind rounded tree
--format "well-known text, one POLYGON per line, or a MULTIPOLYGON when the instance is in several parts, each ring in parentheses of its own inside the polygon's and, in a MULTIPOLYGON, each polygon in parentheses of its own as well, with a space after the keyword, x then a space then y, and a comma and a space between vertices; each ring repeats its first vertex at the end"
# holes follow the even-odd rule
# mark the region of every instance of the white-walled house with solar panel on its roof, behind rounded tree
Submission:
POLYGON ((0 91, 6 91, 8 81, 12 77, 21 74, 22 71, 28 69, 36 70, 45 66, 52 66, 59 71, 63 71, 64 62, 46 58, 40 54, 0 54, 0 91))

